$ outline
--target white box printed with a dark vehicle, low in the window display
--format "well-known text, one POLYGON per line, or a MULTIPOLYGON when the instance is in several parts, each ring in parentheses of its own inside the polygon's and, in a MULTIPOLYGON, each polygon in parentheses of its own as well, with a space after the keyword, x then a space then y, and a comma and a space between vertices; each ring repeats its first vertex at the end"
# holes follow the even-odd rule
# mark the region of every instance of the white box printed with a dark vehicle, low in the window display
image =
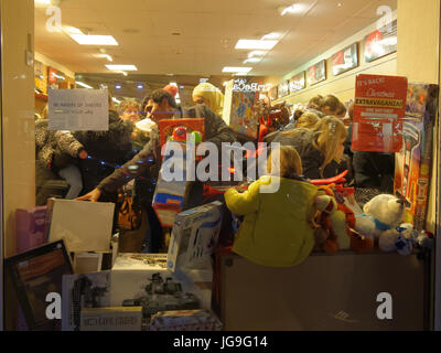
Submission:
POLYGON ((159 311, 209 309, 213 272, 175 271, 166 254, 120 254, 111 270, 110 306, 143 307, 143 319, 159 311))

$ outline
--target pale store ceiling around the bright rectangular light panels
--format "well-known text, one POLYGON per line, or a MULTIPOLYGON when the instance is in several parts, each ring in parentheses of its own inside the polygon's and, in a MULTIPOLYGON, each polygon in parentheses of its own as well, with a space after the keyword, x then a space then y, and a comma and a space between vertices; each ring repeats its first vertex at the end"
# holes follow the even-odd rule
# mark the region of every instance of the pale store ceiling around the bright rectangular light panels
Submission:
MULTIPOLYGON (((58 0, 60 2, 60 0, 58 0)), ((284 75, 378 20, 377 8, 397 0, 300 0, 300 14, 281 17, 293 0, 63 0, 62 24, 89 34, 110 34, 112 64, 135 64, 137 74, 222 75, 224 66, 252 66, 249 75, 284 75), (342 6, 338 7, 337 4, 342 6), (173 35, 180 32, 180 35, 173 35), (282 40, 258 64, 239 39, 278 32, 282 40)), ((100 46, 79 45, 46 30, 46 8, 35 9, 35 51, 76 73, 109 73, 100 46)))

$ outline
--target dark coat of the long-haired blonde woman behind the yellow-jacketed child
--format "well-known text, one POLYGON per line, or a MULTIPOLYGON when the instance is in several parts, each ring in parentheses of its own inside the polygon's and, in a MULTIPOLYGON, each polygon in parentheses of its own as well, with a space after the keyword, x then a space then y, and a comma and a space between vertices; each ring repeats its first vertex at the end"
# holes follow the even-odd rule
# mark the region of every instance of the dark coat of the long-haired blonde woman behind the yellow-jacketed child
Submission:
POLYGON ((324 156, 313 147, 314 133, 308 129, 299 129, 294 137, 286 137, 279 133, 273 142, 280 142, 281 146, 292 146, 299 152, 302 159, 303 175, 309 179, 329 179, 338 175, 347 169, 345 162, 337 163, 332 161, 324 168, 321 174, 324 156))

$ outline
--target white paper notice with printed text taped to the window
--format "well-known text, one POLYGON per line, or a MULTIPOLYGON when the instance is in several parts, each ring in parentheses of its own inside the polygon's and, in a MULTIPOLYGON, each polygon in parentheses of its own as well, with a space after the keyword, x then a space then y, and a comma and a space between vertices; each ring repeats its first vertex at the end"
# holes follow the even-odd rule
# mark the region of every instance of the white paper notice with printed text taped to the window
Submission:
POLYGON ((109 129, 107 89, 50 89, 47 100, 50 130, 109 129))

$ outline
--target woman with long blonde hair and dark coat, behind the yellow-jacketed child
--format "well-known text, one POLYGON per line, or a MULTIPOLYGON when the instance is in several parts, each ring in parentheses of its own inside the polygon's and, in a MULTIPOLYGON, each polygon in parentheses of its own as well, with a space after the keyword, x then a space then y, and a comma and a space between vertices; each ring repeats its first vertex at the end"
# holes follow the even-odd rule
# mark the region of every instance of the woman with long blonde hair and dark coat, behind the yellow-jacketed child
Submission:
POLYGON ((292 146, 302 159, 303 174, 309 179, 327 179, 347 169, 343 161, 347 130, 335 117, 324 117, 313 129, 298 128, 281 132, 273 142, 292 146))

